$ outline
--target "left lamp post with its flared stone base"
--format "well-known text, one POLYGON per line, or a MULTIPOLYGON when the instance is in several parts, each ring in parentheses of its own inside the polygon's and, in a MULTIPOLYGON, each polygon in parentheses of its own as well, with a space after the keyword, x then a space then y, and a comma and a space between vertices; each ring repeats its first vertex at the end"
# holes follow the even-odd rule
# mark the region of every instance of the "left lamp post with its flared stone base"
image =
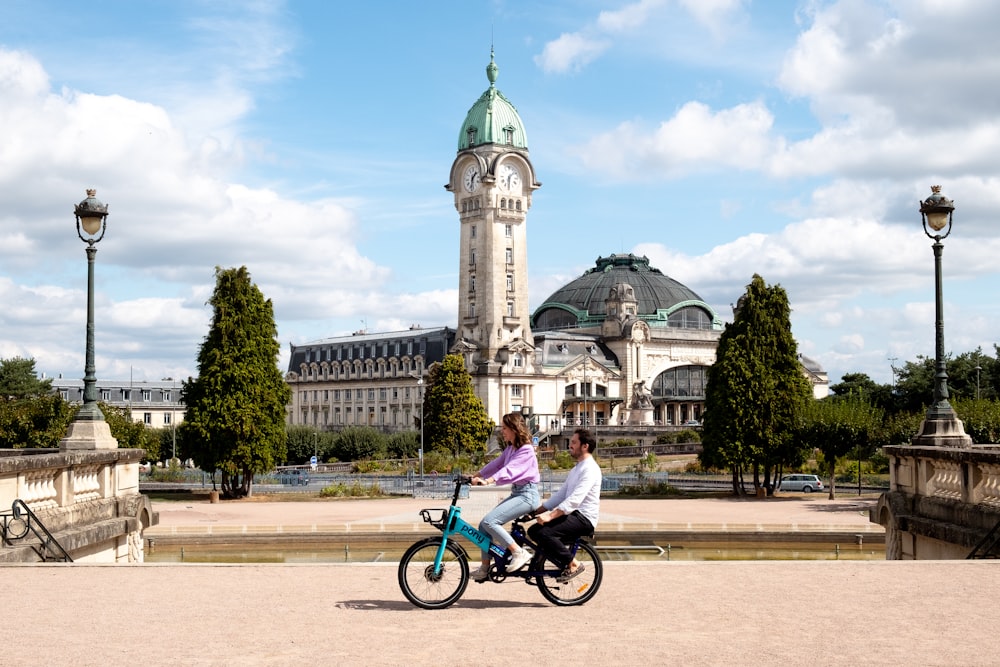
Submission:
POLYGON ((94 261, 97 244, 104 238, 107 204, 97 198, 97 191, 87 190, 87 198, 73 209, 76 234, 87 244, 87 351, 83 376, 83 405, 70 424, 69 433, 59 446, 63 449, 117 449, 111 429, 97 405, 97 375, 94 368, 94 261))

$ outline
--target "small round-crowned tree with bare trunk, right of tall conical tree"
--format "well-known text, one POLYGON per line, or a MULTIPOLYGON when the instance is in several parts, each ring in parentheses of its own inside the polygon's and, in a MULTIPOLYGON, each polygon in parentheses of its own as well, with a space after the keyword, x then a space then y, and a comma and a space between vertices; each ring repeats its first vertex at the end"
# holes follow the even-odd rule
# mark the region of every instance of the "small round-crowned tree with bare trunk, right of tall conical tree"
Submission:
POLYGON ((831 396, 806 404, 798 438, 802 444, 823 452, 829 466, 831 500, 837 494, 837 457, 852 451, 870 455, 883 416, 883 410, 872 405, 864 394, 831 396))

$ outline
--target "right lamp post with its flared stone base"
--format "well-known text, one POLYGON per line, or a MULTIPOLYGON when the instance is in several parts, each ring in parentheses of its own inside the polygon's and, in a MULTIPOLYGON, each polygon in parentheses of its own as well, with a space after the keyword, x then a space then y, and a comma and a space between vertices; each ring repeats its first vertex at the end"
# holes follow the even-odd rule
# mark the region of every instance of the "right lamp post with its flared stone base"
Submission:
POLYGON ((967 447, 972 438, 965 433, 962 421, 948 402, 948 368, 944 356, 944 290, 941 279, 941 241, 951 234, 952 213, 955 204, 941 194, 940 185, 931 186, 931 196, 920 202, 920 217, 924 233, 934 240, 934 402, 927 409, 927 416, 920 432, 912 443, 926 447, 967 447), (942 233, 943 231, 943 233, 942 233))

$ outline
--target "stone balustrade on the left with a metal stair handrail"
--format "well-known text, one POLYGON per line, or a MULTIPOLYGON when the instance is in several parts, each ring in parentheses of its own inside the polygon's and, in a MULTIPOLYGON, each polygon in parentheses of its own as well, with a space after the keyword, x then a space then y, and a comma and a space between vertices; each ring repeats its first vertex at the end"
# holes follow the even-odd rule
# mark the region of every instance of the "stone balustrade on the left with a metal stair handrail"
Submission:
MULTIPOLYGON (((141 449, 0 450, 0 512, 24 502, 74 561, 142 561, 142 530, 156 523, 139 493, 141 449)), ((17 542, 0 562, 37 560, 17 542)))

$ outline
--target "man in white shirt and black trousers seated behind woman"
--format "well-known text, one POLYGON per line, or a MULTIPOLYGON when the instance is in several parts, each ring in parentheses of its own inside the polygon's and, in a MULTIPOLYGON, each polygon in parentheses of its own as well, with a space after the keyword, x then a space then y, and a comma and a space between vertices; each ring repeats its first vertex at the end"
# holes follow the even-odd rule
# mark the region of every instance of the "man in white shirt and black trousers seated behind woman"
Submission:
POLYGON ((601 509, 601 468, 594 460, 597 439, 587 429, 573 432, 569 454, 576 461, 566 482, 535 511, 536 523, 528 536, 562 570, 558 581, 564 583, 577 576, 584 566, 570 555, 566 542, 590 535, 597 528, 601 509))

